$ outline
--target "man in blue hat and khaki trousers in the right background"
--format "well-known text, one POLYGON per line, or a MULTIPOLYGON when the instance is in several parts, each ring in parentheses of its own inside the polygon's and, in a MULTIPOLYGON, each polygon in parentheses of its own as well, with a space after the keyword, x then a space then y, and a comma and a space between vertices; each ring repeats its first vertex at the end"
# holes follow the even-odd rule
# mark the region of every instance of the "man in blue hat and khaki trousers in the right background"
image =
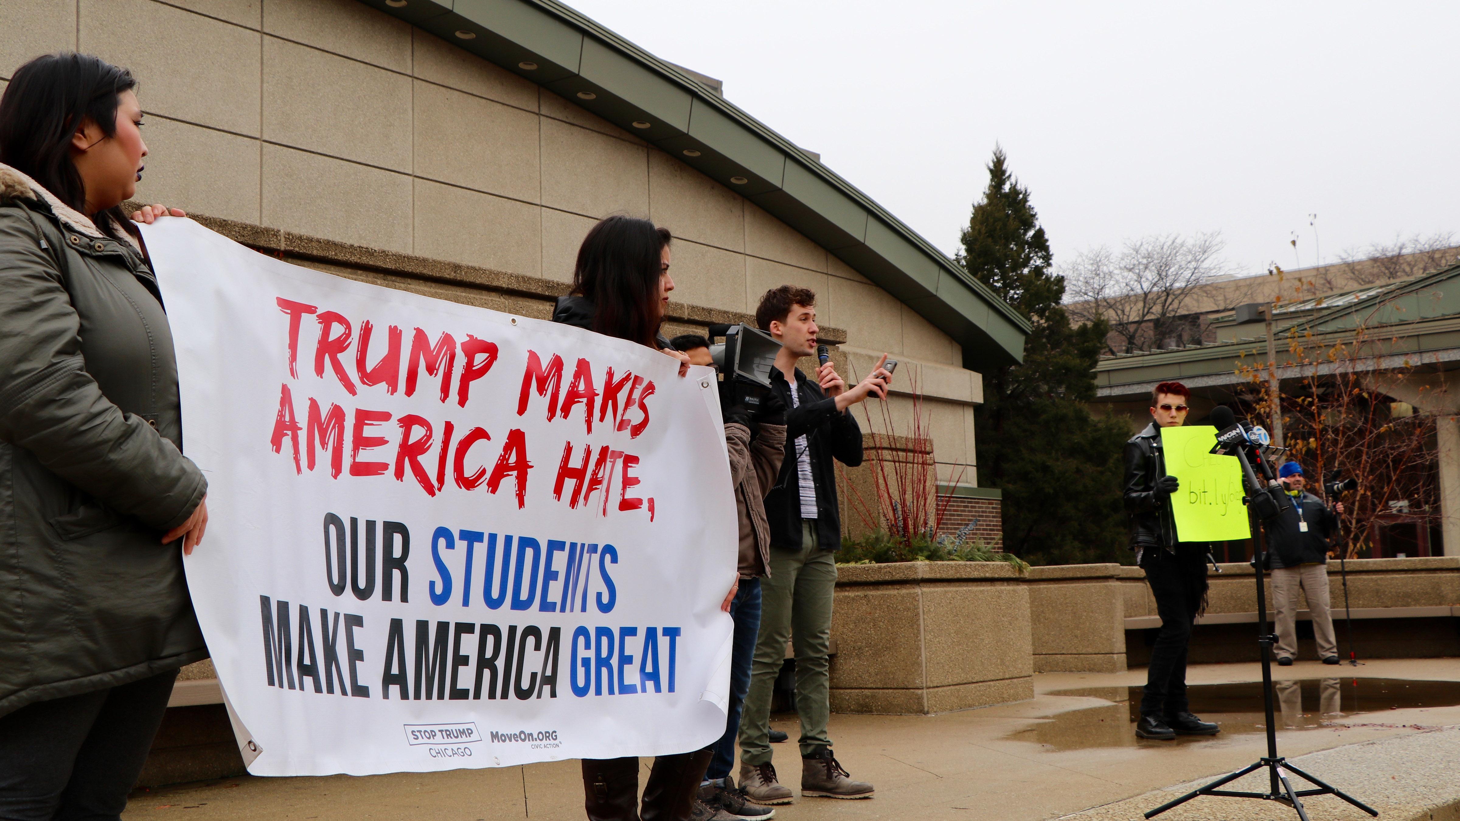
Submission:
POLYGON ((1302 466, 1288 462, 1278 469, 1279 481, 1292 497, 1292 507, 1267 526, 1267 570, 1273 580, 1273 606, 1278 609, 1278 663, 1292 665, 1298 656, 1298 590, 1308 599, 1313 615, 1313 638, 1324 665, 1339 663, 1339 643, 1333 635, 1329 614, 1329 552, 1339 532, 1334 511, 1343 513, 1343 503, 1329 510, 1323 500, 1305 492, 1302 466))

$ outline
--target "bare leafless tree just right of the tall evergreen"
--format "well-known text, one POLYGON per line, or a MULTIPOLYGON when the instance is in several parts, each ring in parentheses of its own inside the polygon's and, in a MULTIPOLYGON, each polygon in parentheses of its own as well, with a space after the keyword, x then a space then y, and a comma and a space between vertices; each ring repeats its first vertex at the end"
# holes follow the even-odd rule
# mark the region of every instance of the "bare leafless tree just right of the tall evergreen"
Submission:
POLYGON ((1088 250, 1063 270, 1069 311, 1080 321, 1107 320, 1111 354, 1199 342, 1204 320, 1187 302, 1202 283, 1232 273, 1222 247, 1212 232, 1129 240, 1120 251, 1088 250))

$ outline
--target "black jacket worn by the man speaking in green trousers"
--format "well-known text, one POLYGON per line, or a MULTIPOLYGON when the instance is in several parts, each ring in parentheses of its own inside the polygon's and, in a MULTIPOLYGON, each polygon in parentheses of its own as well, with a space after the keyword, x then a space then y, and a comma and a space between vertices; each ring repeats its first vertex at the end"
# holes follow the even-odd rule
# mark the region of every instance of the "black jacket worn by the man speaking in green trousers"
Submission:
POLYGON ((823 549, 841 548, 841 516, 837 507, 837 469, 832 459, 848 467, 861 465, 861 428, 851 410, 837 410, 819 384, 796 370, 800 406, 791 408, 791 386, 780 368, 771 368, 771 390, 785 402, 785 460, 775 486, 765 497, 771 523, 771 545, 802 549, 800 473, 796 469, 796 437, 806 435, 816 488, 816 535, 823 549))

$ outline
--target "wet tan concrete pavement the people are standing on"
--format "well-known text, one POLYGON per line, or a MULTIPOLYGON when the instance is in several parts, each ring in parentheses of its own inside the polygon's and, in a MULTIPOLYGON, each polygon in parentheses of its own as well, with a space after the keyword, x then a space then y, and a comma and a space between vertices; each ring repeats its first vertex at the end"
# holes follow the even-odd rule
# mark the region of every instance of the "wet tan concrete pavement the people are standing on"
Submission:
MULTIPOLYGON (((1283 679, 1337 675, 1345 679, 1460 681, 1460 659, 1374 660, 1359 668, 1298 663, 1278 669, 1278 675, 1283 679)), ((1257 665, 1207 665, 1191 668, 1188 681, 1223 684, 1257 678, 1257 665)), ((1121 698, 1126 687, 1143 681, 1145 671, 1044 673, 1037 676, 1032 701, 942 716, 832 716, 837 757, 854 777, 873 782, 877 796, 854 802, 803 799, 778 808, 777 818, 1034 821, 1231 771, 1263 754, 1266 742, 1256 732, 1178 742, 1134 739, 1129 704, 1114 698, 1121 698), (1113 698, 1053 694, 1067 690, 1113 698)), ((1261 703, 1256 701, 1251 711, 1260 710, 1261 703)), ((794 739, 794 722, 774 723, 791 732, 794 739)), ((1450 725, 1460 725, 1460 707, 1383 710, 1346 716, 1342 723, 1279 732, 1279 749, 1298 757, 1407 736, 1416 736, 1413 744, 1422 748, 1429 736, 1416 733, 1450 725)), ((781 777, 797 784, 800 761, 794 744, 777 745, 775 755, 781 777)), ((1315 764, 1314 774, 1324 777, 1326 773, 1315 764)), ((139 790, 126 818, 578 820, 583 818, 581 790, 577 761, 371 777, 242 777, 139 790)), ((1213 818, 1209 809, 1204 812, 1191 817, 1213 818)))

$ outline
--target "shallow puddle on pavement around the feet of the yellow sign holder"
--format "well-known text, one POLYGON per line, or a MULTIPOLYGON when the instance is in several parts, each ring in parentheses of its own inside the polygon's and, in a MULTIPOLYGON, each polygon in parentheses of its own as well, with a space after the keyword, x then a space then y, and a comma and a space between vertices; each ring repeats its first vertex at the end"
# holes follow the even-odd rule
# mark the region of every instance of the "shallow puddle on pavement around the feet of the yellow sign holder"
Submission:
MULTIPOLYGON (((1222 736, 1261 733, 1264 730, 1263 684, 1200 684, 1187 688, 1191 711, 1222 725, 1222 736)), ((1104 698, 1083 710, 1060 713, 1032 728, 1010 733, 1010 741, 1028 741, 1051 751, 1137 746, 1149 742, 1136 738, 1140 717, 1140 687, 1092 687, 1058 690, 1048 695, 1104 698)), ((1460 682, 1406 681, 1391 678, 1323 678, 1273 682, 1273 710, 1282 730, 1313 729, 1334 719, 1372 714, 1412 707, 1453 707, 1460 704, 1460 682)), ((1375 717, 1377 720, 1383 720, 1375 717)), ((1207 741, 1178 736, 1177 744, 1207 741)))

